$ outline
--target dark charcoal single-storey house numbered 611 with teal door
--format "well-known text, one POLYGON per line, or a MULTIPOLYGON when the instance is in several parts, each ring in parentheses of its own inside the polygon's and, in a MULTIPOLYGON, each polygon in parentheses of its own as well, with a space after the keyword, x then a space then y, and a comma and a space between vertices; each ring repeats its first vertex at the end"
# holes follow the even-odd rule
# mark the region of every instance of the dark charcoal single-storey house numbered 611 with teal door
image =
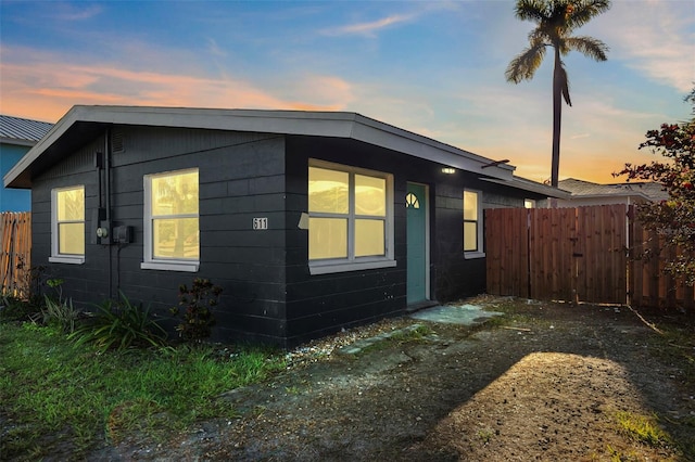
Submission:
POLYGON ((4 184, 75 303, 205 278, 214 339, 292 347, 484 292, 483 209, 568 196, 514 170, 354 113, 75 106, 4 184))

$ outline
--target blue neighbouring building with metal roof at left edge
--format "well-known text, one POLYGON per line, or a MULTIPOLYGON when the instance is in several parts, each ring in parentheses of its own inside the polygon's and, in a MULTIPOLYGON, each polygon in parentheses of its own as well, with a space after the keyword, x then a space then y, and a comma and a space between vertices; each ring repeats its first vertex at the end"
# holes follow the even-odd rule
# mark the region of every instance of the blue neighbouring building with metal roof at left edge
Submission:
MULTIPOLYGON (((0 115, 0 174, 4 176, 53 125, 0 115)), ((31 192, 0 189, 0 211, 28 211, 31 192)))

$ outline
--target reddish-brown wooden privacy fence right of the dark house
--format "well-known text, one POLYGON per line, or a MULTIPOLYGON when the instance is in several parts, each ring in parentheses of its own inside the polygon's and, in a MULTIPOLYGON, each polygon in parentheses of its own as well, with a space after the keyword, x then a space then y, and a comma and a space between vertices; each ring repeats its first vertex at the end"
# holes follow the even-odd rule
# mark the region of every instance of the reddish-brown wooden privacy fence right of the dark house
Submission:
POLYGON ((628 219, 632 211, 626 205, 485 210, 488 293, 693 308, 692 287, 661 274, 664 258, 630 258, 658 245, 655 233, 628 219))

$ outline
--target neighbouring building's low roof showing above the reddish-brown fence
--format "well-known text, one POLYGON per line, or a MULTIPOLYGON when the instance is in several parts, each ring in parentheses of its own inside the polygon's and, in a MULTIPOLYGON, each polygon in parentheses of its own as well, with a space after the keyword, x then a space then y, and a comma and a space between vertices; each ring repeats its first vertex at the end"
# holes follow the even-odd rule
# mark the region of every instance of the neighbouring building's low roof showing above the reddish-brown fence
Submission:
POLYGON ((628 182, 597 184, 590 181, 568 178, 557 184, 560 190, 571 193, 569 198, 557 200, 558 207, 579 207, 584 205, 641 204, 665 201, 668 192, 660 183, 628 182))

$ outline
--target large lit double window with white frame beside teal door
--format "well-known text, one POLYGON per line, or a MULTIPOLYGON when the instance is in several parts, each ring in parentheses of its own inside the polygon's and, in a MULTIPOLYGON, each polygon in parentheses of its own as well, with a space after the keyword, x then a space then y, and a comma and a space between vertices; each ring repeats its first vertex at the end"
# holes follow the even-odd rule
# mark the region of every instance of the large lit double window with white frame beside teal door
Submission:
POLYGON ((313 274, 395 266, 392 179, 313 161, 308 167, 308 259, 313 274))

